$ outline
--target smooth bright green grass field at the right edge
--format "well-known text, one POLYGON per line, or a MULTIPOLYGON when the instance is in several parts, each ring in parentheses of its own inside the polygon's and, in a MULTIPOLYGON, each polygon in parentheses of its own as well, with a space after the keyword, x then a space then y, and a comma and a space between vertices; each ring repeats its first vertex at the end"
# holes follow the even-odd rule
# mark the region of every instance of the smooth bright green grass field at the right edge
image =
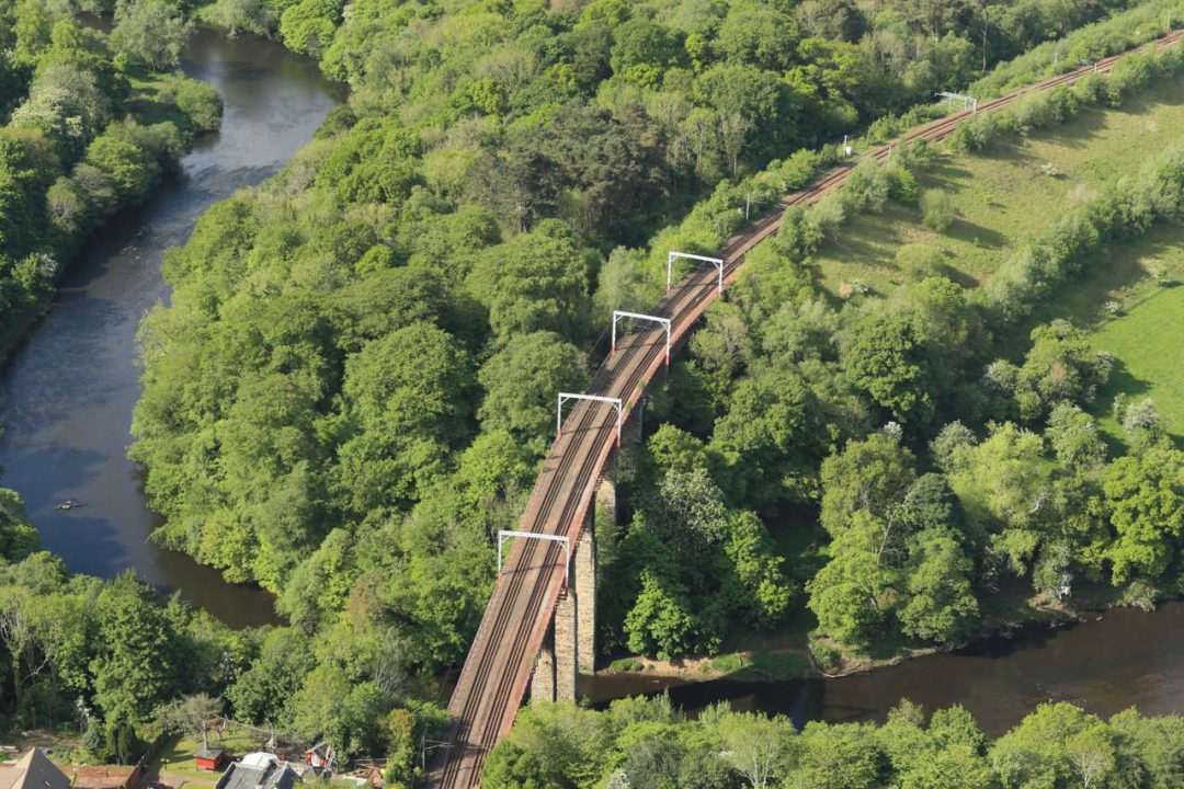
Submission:
POLYGON ((1184 286, 1165 287, 1130 312, 1090 335, 1099 350, 1118 358, 1098 399, 1101 427, 1114 439, 1121 432, 1109 412, 1119 393, 1156 401, 1167 431, 1184 439, 1184 286))

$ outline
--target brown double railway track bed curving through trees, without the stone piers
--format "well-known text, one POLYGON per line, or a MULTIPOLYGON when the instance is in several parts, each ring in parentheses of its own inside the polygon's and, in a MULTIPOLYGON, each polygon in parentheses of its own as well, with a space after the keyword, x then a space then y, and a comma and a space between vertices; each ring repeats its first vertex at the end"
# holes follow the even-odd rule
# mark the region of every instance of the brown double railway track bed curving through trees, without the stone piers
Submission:
MULTIPOLYGON (((1182 37, 1184 31, 1173 31, 1139 48, 1167 46, 1182 37)), ((1096 65, 983 102, 978 112, 997 112, 1023 96, 1072 84, 1092 71, 1105 73, 1126 54, 1111 56, 1096 65)), ((894 148, 921 140, 944 140, 972 115, 971 110, 964 110, 918 127, 785 196, 774 209, 728 238, 716 253, 723 259, 725 286, 735 279, 747 252, 777 232, 786 208, 816 202, 839 188, 851 167, 866 159, 884 161, 894 148)), ((707 305, 718 296, 716 283, 714 267, 697 269, 678 282, 655 308, 655 315, 671 321, 674 348, 686 342, 707 305)), ((626 408, 636 405, 645 386, 664 366, 664 329, 646 329, 619 338, 616 353, 597 370, 588 393, 619 397, 626 408)), ((614 445, 612 408, 605 403, 577 402, 564 421, 561 435, 551 447, 519 528, 562 535, 574 545, 614 445)), ((480 785, 485 756, 509 731, 529 684, 535 655, 561 594, 562 564, 564 550, 553 542, 514 542, 449 704, 452 720, 445 744, 436 751, 430 776, 433 785, 443 789, 480 785)))

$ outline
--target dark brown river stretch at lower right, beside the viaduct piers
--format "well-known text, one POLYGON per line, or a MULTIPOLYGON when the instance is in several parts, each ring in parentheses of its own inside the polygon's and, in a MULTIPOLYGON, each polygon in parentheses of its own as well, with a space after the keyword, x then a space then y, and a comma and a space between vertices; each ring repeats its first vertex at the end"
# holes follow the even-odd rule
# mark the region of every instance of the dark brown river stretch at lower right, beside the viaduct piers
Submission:
POLYGON ((991 736, 1014 726, 1044 701, 1072 701, 1111 716, 1130 706, 1145 714, 1184 712, 1184 603, 1154 613, 1115 609, 1096 621, 1029 628, 948 654, 908 660, 839 679, 745 683, 720 679, 680 684, 645 674, 587 680, 581 692, 610 698, 668 691, 676 706, 696 712, 726 700, 805 720, 883 722, 901 699, 928 711, 951 704, 970 710, 991 736))

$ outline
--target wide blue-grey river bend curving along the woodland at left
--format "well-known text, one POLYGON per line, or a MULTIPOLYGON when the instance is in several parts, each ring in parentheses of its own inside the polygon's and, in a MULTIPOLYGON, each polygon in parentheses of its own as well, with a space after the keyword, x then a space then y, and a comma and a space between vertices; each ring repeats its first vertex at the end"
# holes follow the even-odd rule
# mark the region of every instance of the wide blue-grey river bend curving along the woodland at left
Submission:
POLYGON ((341 99, 316 65, 279 44, 199 30, 186 73, 225 102, 221 131, 198 141, 181 175, 117 218, 71 264, 50 312, 0 371, 0 484, 25 497, 41 543, 78 573, 134 569, 232 626, 275 621, 272 599, 148 539, 160 525, 127 459, 140 396, 135 334, 168 286, 165 251, 210 205, 274 174, 341 99), (76 499, 81 506, 54 506, 76 499))

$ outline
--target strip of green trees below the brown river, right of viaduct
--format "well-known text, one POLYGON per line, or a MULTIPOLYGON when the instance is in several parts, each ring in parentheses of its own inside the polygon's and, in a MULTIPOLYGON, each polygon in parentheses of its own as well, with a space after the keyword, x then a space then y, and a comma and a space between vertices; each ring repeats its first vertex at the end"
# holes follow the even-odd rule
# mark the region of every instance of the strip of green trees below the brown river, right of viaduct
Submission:
POLYGON ((1184 718, 1135 710, 1103 720, 1045 704, 990 739, 961 707, 902 703, 874 724, 733 713, 688 720, 664 698, 523 710, 489 756, 487 789, 1175 789, 1184 718))

